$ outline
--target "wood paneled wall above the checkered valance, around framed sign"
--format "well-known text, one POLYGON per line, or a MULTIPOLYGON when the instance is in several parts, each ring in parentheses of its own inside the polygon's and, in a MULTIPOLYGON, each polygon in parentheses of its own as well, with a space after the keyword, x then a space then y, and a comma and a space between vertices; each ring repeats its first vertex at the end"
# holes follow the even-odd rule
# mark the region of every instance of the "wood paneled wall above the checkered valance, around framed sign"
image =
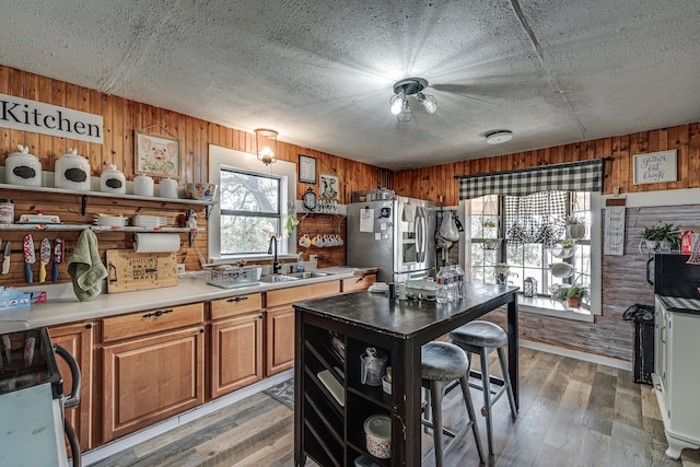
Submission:
POLYGON ((458 175, 488 174, 602 157, 610 157, 604 166, 603 192, 605 195, 612 195, 615 187, 619 187, 621 194, 698 188, 700 187, 698 175, 700 174, 700 124, 401 171, 394 174, 394 189, 404 196, 435 202, 439 202, 442 196, 445 199, 445 206, 455 206, 459 202, 459 190, 454 177, 458 175), (669 149, 678 150, 678 182, 634 185, 633 155, 669 149))

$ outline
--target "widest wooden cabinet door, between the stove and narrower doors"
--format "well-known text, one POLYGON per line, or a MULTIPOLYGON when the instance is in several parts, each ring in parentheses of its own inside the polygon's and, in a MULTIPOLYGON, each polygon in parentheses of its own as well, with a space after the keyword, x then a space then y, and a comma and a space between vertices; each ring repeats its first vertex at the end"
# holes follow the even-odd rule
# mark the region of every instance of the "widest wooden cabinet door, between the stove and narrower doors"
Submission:
POLYGON ((192 326, 102 348, 105 442, 203 404, 203 332, 192 326))

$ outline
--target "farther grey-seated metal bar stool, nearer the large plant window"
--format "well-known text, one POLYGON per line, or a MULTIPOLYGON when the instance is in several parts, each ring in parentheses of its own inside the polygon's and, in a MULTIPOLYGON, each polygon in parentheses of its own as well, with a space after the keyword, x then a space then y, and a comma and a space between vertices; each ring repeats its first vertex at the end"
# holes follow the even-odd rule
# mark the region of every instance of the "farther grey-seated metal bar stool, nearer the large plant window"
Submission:
MULTIPOLYGON (((517 408, 515 407, 515 398, 513 397, 513 388, 511 378, 508 373, 508 363, 505 361, 505 352, 503 347, 508 345, 508 335, 500 326, 493 323, 475 320, 467 323, 450 332, 452 342, 459 346, 467 355, 478 353, 481 362, 481 385, 469 383, 474 388, 483 392, 483 407, 481 415, 486 417, 486 434, 489 442, 489 454, 493 454, 493 435, 491 430, 491 406, 503 393, 508 394, 511 404, 511 415, 513 421, 517 418, 517 408), (502 378, 491 376, 489 374, 489 353, 497 350, 499 353, 499 362, 501 363, 502 378), (491 390, 491 383, 500 386, 498 390, 491 390)), ((479 376, 479 372, 471 370, 472 375, 479 376)))

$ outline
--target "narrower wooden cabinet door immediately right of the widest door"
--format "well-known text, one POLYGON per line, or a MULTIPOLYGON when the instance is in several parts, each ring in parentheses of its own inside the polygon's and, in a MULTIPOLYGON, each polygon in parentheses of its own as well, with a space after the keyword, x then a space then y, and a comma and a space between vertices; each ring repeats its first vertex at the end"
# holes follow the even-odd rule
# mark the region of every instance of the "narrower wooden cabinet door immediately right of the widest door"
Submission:
POLYGON ((262 315, 249 313, 211 324, 210 397, 262 378, 262 315))

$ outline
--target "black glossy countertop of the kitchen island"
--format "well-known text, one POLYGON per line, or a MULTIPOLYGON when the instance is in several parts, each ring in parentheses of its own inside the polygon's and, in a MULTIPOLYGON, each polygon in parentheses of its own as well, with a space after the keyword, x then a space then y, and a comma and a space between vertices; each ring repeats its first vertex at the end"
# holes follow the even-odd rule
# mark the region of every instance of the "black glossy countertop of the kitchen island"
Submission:
POLYGON ((464 299, 452 303, 416 300, 389 300, 386 293, 360 291, 308 302, 298 302, 298 308, 358 328, 382 332, 401 339, 417 335, 438 336, 442 329, 454 329, 512 301, 516 287, 466 282, 464 299), (475 317, 471 317, 471 316, 475 317), (431 332, 431 330, 433 332, 431 332), (435 334, 438 332, 438 334, 435 334))

